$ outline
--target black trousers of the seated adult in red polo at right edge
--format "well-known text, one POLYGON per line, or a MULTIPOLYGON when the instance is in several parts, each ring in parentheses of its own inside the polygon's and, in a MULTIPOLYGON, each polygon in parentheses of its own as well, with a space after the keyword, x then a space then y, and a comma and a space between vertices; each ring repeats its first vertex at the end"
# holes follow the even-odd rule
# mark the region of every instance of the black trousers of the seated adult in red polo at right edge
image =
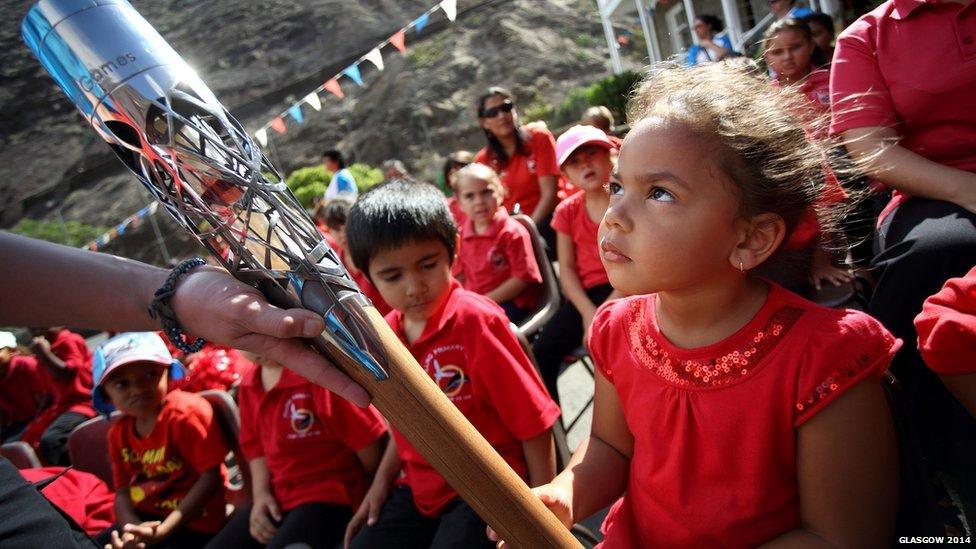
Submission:
POLYGON ((925 367, 914 318, 949 278, 976 265, 976 215, 948 202, 912 198, 885 219, 872 260, 877 286, 868 312, 904 342, 891 371, 930 463, 976 497, 976 422, 925 367))

